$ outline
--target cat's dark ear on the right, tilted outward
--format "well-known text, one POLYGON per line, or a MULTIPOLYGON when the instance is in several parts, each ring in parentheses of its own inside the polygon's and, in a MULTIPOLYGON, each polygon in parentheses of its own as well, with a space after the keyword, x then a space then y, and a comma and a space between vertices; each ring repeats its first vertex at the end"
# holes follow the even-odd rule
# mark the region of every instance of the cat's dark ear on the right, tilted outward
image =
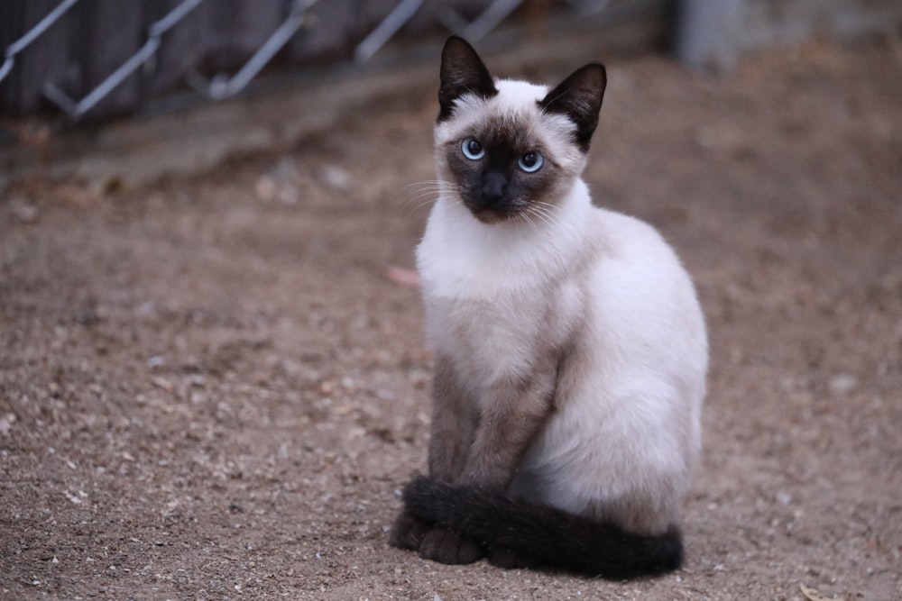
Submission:
POLYGON ((589 142, 598 125, 598 112, 602 109, 607 83, 604 65, 590 63, 576 69, 538 101, 544 112, 565 114, 576 123, 575 141, 584 152, 589 150, 589 142))

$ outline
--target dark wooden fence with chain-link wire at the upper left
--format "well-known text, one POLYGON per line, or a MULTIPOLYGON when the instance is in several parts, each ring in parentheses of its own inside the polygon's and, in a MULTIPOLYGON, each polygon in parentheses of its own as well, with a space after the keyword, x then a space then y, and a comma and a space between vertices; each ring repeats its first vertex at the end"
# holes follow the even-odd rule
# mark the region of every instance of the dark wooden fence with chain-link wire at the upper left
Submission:
MULTIPOLYGON (((446 29, 457 29, 481 15, 492 17, 491 13, 500 21, 520 4, 525 3, 4 0, 0 3, 0 50, 6 49, 5 64, 0 67, 0 113, 61 109, 76 119, 118 114, 186 83, 212 98, 231 96, 263 66, 302 68, 350 59, 356 44, 377 33, 379 39, 369 39, 367 48, 358 49, 366 58, 400 25, 425 27, 444 18, 446 29)), ((618 3, 570 0, 557 4, 568 10, 594 7, 597 12, 618 3)))

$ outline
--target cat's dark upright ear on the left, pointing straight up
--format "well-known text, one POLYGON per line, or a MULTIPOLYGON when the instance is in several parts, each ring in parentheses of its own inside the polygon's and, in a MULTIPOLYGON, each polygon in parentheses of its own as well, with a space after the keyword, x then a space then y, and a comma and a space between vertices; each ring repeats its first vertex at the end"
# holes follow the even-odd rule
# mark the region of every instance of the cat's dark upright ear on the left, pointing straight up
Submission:
POLYGON ((442 50, 441 86, 438 88, 438 121, 445 121, 454 111, 454 102, 465 94, 491 98, 498 94, 495 82, 483 60, 463 38, 451 36, 442 50))

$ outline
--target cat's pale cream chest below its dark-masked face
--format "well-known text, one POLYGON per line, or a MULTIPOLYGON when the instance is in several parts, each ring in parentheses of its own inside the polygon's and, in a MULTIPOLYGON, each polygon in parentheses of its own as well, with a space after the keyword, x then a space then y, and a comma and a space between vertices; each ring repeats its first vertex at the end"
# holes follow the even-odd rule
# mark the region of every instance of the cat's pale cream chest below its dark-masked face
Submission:
POLYGON ((578 237, 485 228, 459 212, 439 203, 417 249, 431 344, 468 379, 524 375, 584 312, 578 237))

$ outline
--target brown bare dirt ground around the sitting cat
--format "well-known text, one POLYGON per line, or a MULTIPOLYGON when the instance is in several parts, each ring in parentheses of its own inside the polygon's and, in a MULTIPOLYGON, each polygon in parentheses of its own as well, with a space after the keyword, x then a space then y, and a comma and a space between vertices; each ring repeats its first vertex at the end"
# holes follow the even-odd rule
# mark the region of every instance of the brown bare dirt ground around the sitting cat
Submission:
POLYGON ((418 292, 386 269, 428 214, 431 79, 193 176, 9 185, 0 598, 902 598, 899 56, 608 59, 586 179, 673 242, 712 342, 663 578, 387 544, 428 440, 418 292))

